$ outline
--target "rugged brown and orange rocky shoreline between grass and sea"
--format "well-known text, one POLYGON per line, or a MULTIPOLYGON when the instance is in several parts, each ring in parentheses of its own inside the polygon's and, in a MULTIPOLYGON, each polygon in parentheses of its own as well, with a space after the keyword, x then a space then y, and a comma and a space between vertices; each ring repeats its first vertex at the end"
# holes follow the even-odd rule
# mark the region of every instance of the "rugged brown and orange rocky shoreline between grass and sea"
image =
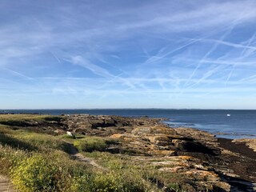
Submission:
POLYGON ((8 123, 48 134, 68 131, 77 137, 110 138, 113 142, 106 152, 129 154, 133 157, 131 163, 146 163, 162 173, 180 174, 186 181, 184 185, 191 187, 189 191, 256 190, 256 152, 251 149, 255 139, 216 138, 202 130, 172 128, 163 120, 74 114, 55 116, 47 122, 8 123))

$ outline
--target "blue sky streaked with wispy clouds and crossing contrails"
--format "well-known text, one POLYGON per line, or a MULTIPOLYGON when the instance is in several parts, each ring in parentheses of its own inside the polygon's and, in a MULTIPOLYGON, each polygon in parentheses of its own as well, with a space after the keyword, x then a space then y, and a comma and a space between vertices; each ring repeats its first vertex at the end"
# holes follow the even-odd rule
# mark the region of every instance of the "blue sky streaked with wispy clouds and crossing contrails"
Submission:
POLYGON ((256 110, 256 1, 2 0, 0 109, 256 110))

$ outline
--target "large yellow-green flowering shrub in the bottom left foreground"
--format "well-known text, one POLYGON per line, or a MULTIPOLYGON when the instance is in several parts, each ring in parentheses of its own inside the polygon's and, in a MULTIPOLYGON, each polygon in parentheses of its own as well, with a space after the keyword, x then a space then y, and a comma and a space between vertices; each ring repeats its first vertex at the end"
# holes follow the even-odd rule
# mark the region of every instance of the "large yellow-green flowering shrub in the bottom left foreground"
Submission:
MULTIPOLYGON (((61 156, 63 161, 63 155, 61 156)), ((12 182, 18 190, 24 192, 66 191, 70 187, 71 176, 68 169, 62 166, 58 159, 56 154, 55 158, 33 154, 12 168, 12 182)))

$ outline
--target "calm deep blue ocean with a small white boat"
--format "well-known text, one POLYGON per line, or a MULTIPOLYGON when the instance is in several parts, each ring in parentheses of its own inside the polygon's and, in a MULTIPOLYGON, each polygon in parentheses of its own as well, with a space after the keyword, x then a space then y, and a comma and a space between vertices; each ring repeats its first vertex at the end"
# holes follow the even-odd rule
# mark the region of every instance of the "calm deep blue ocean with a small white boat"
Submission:
POLYGON ((256 110, 0 110, 0 113, 110 114, 166 118, 168 125, 206 130, 219 138, 256 138, 256 110))

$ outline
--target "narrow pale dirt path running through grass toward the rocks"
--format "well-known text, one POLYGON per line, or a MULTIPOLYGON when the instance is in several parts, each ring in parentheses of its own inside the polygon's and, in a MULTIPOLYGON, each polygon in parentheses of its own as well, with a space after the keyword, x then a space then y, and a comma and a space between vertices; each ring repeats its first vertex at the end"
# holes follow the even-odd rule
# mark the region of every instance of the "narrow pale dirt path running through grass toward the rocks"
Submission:
POLYGON ((99 170, 107 170, 105 167, 98 165, 98 163, 95 162, 92 158, 86 158, 83 154, 79 153, 77 148, 75 148, 72 144, 70 144, 70 150, 70 155, 76 158, 78 161, 86 162, 91 166, 98 168, 99 170))

